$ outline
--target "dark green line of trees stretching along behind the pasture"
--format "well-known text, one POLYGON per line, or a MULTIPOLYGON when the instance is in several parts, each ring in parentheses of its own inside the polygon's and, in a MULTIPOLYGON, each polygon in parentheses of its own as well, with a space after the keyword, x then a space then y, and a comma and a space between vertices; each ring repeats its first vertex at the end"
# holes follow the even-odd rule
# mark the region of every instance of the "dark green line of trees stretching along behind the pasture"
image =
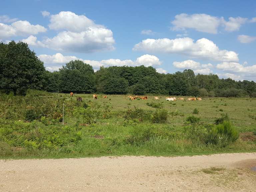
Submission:
POLYGON ((63 93, 164 94, 184 96, 256 97, 254 81, 195 75, 193 70, 160 74, 153 67, 112 66, 94 72, 83 61, 68 62, 59 71, 45 70, 26 43, 0 43, 0 89, 25 94, 27 89, 63 93))

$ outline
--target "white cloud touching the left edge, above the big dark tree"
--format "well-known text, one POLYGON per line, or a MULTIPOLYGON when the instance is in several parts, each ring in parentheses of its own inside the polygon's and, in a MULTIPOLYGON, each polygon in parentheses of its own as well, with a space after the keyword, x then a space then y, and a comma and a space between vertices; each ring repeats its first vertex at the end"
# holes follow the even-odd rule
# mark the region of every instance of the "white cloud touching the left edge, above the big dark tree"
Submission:
POLYGON ((16 21, 11 25, 0 23, 0 38, 11 36, 35 35, 46 32, 47 29, 41 25, 32 25, 28 21, 16 21))

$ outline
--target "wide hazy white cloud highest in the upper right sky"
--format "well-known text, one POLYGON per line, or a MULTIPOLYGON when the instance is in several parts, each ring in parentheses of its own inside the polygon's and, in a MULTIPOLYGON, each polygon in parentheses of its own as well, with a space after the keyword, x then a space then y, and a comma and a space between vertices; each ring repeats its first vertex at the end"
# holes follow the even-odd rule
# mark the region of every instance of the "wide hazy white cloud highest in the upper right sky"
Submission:
POLYGON ((245 23, 247 18, 229 17, 226 21, 223 17, 215 17, 207 14, 192 14, 185 13, 175 16, 171 22, 173 24, 172 30, 195 29, 196 31, 205 33, 218 33, 219 26, 224 26, 226 31, 237 31, 241 24, 245 23))

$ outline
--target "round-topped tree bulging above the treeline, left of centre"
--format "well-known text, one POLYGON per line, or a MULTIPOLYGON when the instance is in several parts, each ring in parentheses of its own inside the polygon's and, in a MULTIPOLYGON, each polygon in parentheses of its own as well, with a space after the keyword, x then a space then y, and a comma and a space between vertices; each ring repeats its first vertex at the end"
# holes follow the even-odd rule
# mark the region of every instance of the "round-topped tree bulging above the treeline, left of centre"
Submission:
POLYGON ((95 74, 91 65, 80 60, 70 61, 60 69, 59 90, 61 92, 94 91, 95 74))

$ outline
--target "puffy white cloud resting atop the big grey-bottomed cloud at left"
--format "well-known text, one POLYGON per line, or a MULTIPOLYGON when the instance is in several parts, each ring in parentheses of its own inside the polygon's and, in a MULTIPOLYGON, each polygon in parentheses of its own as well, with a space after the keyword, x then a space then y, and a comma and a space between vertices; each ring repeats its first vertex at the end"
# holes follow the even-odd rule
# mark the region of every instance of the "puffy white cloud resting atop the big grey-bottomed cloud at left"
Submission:
POLYGON ((96 25, 93 20, 85 15, 76 15, 70 11, 61 11, 56 15, 51 15, 49 28, 53 30, 68 30, 73 32, 86 31, 89 27, 102 27, 96 25))

